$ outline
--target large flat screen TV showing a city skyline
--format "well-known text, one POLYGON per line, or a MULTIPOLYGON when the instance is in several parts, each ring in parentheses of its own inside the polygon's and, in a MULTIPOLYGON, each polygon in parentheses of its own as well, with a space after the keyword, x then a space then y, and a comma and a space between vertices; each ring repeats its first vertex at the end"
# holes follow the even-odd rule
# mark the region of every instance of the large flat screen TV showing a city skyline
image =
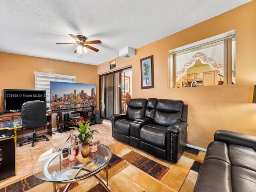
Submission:
POLYGON ((96 84, 50 82, 52 112, 96 107, 96 84))

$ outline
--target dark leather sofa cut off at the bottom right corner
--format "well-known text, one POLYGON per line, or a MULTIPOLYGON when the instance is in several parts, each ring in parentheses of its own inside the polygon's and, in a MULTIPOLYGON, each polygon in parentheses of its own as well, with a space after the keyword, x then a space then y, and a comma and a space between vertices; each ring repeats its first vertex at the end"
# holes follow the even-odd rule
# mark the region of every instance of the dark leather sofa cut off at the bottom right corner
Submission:
POLYGON ((218 130, 207 148, 194 192, 256 191, 256 137, 218 130))

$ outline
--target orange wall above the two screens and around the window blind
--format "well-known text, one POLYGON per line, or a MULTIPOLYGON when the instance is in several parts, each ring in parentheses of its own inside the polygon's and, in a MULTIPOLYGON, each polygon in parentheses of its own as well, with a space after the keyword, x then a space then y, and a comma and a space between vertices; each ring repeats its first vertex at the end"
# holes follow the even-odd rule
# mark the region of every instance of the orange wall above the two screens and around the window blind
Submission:
MULTIPOLYGON (((35 89, 34 71, 76 76, 77 83, 96 84, 96 68, 94 65, 0 52, 1 94, 3 89, 35 89)), ((2 104, 3 97, 0 102, 2 104)), ((4 110, 2 105, 0 109, 4 110)), ((52 127, 56 127, 55 116, 52 120, 52 127)))

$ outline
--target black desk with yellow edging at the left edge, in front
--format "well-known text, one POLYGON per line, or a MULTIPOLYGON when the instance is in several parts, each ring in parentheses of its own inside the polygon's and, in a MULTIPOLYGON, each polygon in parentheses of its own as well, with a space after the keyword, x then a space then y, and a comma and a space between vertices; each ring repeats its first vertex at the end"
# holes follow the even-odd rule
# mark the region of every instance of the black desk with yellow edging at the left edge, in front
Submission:
POLYGON ((16 130, 22 128, 21 118, 0 122, 0 180, 17 174, 16 130))

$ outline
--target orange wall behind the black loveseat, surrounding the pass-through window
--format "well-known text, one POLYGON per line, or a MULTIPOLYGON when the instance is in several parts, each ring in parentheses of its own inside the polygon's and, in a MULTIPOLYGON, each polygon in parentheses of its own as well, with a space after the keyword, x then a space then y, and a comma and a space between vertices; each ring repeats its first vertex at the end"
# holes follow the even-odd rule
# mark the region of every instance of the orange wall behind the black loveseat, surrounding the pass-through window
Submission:
MULTIPOLYGON (((129 59, 116 58, 116 69, 132 65, 133 98, 166 98, 188 104, 188 144, 206 148, 218 129, 256 130, 256 1, 186 28, 136 50, 129 59), (236 30, 237 85, 168 88, 168 50, 236 30), (140 59, 154 55, 154 89, 141 89, 140 59)), ((109 71, 109 62, 97 74, 109 71)), ((246 132, 252 133, 252 132, 246 132)))

